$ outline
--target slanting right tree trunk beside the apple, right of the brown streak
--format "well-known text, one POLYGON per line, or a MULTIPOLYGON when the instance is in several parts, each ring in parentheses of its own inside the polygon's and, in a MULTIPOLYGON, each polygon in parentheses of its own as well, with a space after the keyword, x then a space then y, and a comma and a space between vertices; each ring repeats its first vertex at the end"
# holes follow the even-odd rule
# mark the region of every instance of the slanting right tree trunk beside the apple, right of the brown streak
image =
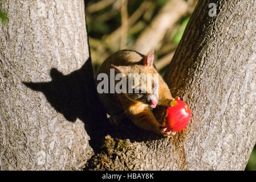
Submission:
POLYGON ((200 1, 165 78, 193 111, 187 169, 245 169, 256 142, 256 1, 200 1))

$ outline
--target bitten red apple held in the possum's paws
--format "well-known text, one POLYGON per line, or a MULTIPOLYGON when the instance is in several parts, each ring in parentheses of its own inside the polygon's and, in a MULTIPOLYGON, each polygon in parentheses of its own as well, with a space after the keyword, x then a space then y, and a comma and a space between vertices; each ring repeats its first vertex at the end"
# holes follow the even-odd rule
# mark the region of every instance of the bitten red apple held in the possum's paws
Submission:
POLYGON ((177 97, 176 100, 170 102, 170 107, 166 110, 163 127, 166 128, 166 131, 175 133, 188 125, 190 117, 191 110, 188 105, 177 97))

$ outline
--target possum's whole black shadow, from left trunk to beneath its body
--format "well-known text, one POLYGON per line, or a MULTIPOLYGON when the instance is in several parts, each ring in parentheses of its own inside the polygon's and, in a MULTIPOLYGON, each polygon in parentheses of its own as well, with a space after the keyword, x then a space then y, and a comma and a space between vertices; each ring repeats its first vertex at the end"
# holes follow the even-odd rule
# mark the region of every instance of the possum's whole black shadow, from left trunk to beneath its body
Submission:
MULTIPOLYGON (((68 75, 63 75, 56 68, 50 71, 49 82, 23 82, 27 87, 42 92, 52 107, 70 122, 77 118, 84 122, 90 135, 90 146, 99 150, 99 144, 105 135, 113 138, 131 139, 131 142, 160 139, 160 135, 137 129, 127 122, 127 126, 112 126, 96 94, 91 60, 88 59, 82 68, 68 75)), ((122 125, 126 125, 124 123, 122 125)))

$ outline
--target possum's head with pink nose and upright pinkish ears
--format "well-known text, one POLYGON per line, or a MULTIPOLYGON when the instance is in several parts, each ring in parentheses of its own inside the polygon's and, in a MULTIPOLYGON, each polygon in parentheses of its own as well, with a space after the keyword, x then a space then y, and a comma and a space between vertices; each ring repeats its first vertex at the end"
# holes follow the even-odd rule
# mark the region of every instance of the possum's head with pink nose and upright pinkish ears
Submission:
POLYGON ((154 52, 150 51, 137 64, 111 67, 115 68, 117 74, 121 73, 125 77, 127 90, 124 95, 129 100, 143 102, 155 108, 159 98, 159 73, 153 67, 153 60, 154 52))

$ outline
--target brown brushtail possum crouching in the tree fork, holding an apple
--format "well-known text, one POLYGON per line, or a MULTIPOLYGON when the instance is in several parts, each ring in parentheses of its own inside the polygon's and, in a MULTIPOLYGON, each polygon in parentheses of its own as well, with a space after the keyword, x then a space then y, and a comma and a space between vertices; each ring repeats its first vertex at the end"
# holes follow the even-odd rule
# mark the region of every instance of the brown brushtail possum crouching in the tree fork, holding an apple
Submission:
MULTIPOLYGON (((131 50, 118 51, 109 56, 99 68, 96 86, 97 90, 99 89, 98 87, 102 86, 99 85, 102 81, 101 77, 99 77, 100 73, 101 75, 104 73, 108 76, 107 92, 99 93, 98 91, 98 94, 100 101, 111 117, 119 117, 125 114, 137 127, 169 136, 173 134, 171 132, 165 132, 165 130, 162 129, 162 121, 157 121, 152 110, 160 106, 169 107, 170 102, 174 99, 168 86, 156 71, 153 60, 153 51, 150 51, 146 56, 131 50), (132 82, 129 83, 129 81, 127 81, 125 85, 122 85, 121 89, 127 89, 125 90, 126 92, 109 92, 111 89, 111 78, 109 78, 111 77, 111 69, 115 71, 115 76, 121 73, 125 80, 129 80, 131 75, 133 75, 132 82), (157 79, 152 79, 147 82, 147 79, 145 80, 145 78, 141 77, 139 82, 136 82, 135 78, 143 74, 151 75, 151 78, 157 77, 157 79), (146 86, 143 86, 143 84, 146 86), (129 92, 128 89, 130 89, 130 91, 132 90, 132 92, 129 92), (156 92, 156 90, 158 92, 156 92)), ((112 82, 117 84, 118 80, 119 79, 115 79, 115 81, 112 82)))

